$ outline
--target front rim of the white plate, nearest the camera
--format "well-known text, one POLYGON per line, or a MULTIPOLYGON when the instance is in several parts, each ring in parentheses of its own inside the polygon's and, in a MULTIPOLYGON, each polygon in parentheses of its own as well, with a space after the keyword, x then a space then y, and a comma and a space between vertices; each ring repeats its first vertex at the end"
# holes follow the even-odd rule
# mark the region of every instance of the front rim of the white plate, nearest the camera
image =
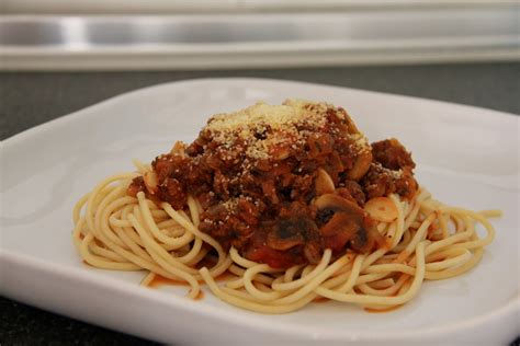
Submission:
MULTIPOLYGON (((92 272, 84 269, 78 270, 78 268, 68 267, 66 265, 52 263, 52 262, 41 262, 37 257, 32 257, 25 254, 20 254, 10 250, 3 250, 0 252, 0 263, 16 263, 22 267, 31 267, 32 269, 39 269, 41 272, 47 272, 58 278, 72 278, 75 281, 84 284, 87 286, 97 287, 105 290, 106 292, 124 292, 126 295, 134 296, 136 299, 145 299, 151 301, 158 301, 160 303, 167 303, 170 308, 179 309, 181 311, 190 311, 194 314, 200 314, 210 319, 221 319, 227 320, 229 323, 233 323, 235 327, 244 326, 248 328, 258 327, 257 320, 260 320, 269 314, 261 313, 251 313, 248 316, 239 315, 235 313, 235 310, 222 311, 217 307, 207 305, 205 308, 200 308, 196 304, 188 303, 184 297, 177 295, 168 293, 160 290, 146 290, 138 285, 132 285, 126 281, 118 280, 116 278, 106 276, 100 277, 92 272), (98 280, 92 280, 93 278, 98 280), (222 316, 224 313, 226 316, 222 316), (231 320, 229 320, 231 319, 231 320)), ((9 276, 14 276, 10 274, 9 268, 3 268, 2 277, 9 278, 9 276)), ((2 290, 4 291, 5 284, 2 284, 2 290)), ((15 295, 7 295, 8 298, 16 300, 15 295)), ((49 311, 59 311, 53 310, 52 308, 44 307, 43 309, 48 309, 49 311)), ((238 309, 238 308, 236 308, 238 309)), ((365 342, 399 342, 399 341, 419 341, 419 339, 434 339, 436 337, 449 336, 456 333, 467 332, 479 326, 488 324, 497 324, 505 320, 512 319, 515 315, 518 315, 520 312, 520 293, 517 291, 517 296, 508 300, 506 303, 488 311, 485 314, 473 316, 470 320, 460 320, 455 323, 444 323, 434 327, 420 327, 420 328, 410 328, 408 331, 396 330, 396 331, 384 331, 374 333, 374 331, 368 332, 355 332, 352 331, 332 331, 330 328, 321 330, 318 334, 317 341, 325 342, 339 342, 339 341, 365 341, 365 342)), ((74 319, 81 320, 77 315, 72 316, 74 319)), ((103 325, 103 324, 100 324, 103 325)), ((270 324, 264 323, 259 330, 263 330, 275 335, 285 336, 290 338, 305 338, 316 337, 316 332, 308 331, 304 326, 298 327, 293 322, 290 325, 285 323, 270 324)))

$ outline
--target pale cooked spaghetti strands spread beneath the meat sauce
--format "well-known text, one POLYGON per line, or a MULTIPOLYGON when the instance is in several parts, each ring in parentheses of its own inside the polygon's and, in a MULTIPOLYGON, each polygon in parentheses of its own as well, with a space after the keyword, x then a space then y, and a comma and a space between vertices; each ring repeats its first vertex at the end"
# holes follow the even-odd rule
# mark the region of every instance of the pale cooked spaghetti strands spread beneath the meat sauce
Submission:
MULTIPOLYGON (((201 231, 206 208, 200 198, 188 194, 184 208, 174 208, 146 191, 129 194, 136 180, 155 172, 139 162, 136 166, 136 173, 105 178, 77 203, 74 242, 84 262, 104 269, 146 270, 144 286, 156 276, 186 282, 190 298, 197 297, 205 282, 223 301, 262 313, 287 313, 324 298, 382 311, 405 304, 425 280, 473 268, 495 235, 488 218, 500 215, 443 205, 422 187, 411 196, 394 192, 363 206, 378 234, 369 251, 348 245, 355 239, 351 234, 341 251, 325 247, 314 263, 273 266, 201 231), (477 224, 486 230, 484 238, 477 224), (219 285, 216 278, 224 273, 233 276, 219 285)), ((315 193, 318 209, 337 196, 329 174, 319 176, 317 182, 331 182, 332 192, 324 187, 327 183, 318 183, 317 189, 325 189, 315 193)))

